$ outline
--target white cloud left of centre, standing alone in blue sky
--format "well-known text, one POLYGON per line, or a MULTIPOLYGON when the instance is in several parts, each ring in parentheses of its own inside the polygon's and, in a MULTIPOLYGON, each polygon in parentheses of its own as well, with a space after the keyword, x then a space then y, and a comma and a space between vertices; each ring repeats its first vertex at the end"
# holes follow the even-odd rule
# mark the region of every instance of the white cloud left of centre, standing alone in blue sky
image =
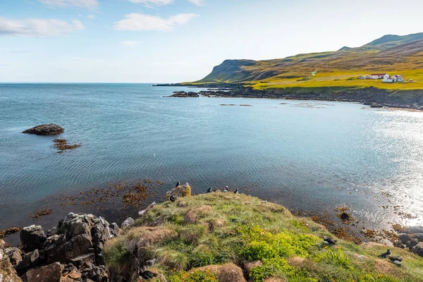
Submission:
POLYGON ((144 15, 142 13, 130 13, 125 19, 114 23, 115 30, 145 31, 145 30, 173 30, 176 25, 184 25, 198 15, 194 13, 180 13, 169 18, 144 15))

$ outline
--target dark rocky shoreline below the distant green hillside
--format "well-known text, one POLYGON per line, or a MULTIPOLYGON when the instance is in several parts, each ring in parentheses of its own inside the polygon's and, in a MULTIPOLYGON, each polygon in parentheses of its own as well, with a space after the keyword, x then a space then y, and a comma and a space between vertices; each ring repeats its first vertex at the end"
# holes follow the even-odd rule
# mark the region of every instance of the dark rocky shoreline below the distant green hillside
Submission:
MULTIPOLYGON (((212 85, 157 85, 157 86, 190 86, 213 87, 212 85)), ((374 108, 423 110, 423 90, 390 91, 376 87, 343 88, 343 87, 293 87, 269 88, 255 90, 243 85, 215 85, 216 89, 197 92, 202 97, 225 98, 262 98, 287 100, 314 100, 328 102, 355 102, 374 108)), ((190 92, 192 93, 192 92, 190 92)), ((195 92, 194 92, 195 93, 195 92)), ((195 94, 192 93, 192 97, 195 94)), ((177 97, 177 96, 175 96, 177 97)), ((188 95, 184 97, 190 97, 188 95)))

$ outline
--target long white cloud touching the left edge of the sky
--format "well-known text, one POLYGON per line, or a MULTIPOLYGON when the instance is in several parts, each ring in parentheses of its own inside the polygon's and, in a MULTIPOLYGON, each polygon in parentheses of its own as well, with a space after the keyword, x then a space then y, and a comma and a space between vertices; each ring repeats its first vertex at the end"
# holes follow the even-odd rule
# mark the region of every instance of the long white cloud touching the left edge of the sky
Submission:
POLYGON ((13 20, 0 18, 0 35, 22 35, 33 37, 57 36, 83 30, 80 20, 68 23, 64 20, 46 20, 29 18, 27 20, 13 20))

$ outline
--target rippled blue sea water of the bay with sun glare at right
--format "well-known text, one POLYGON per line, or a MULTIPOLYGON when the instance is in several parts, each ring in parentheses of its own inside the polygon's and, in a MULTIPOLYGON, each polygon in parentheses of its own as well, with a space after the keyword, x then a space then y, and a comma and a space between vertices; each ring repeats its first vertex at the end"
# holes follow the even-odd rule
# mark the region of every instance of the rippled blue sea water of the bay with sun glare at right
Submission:
MULTIPOLYGON (((423 219, 423 113, 342 102, 164 97, 182 90, 192 91, 1 84, 0 230, 51 227, 70 210, 88 211, 61 209, 55 195, 143 179, 164 183, 151 201, 163 201, 180 180, 195 193, 228 185, 290 209, 347 206, 375 227, 423 219), (21 133, 42 123, 61 125, 60 137, 82 146, 57 154, 56 137, 21 133), (54 213, 30 219, 47 207, 54 213)), ((97 212, 118 223, 134 213, 97 212)))

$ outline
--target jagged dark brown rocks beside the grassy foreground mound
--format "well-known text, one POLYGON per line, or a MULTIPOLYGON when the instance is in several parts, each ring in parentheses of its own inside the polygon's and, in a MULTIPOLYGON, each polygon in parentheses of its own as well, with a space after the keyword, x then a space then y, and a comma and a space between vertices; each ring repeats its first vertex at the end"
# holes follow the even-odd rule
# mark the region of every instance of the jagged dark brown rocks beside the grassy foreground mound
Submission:
POLYGON ((118 233, 117 224, 102 217, 70 213, 47 236, 41 226, 23 228, 23 257, 17 248, 2 254, 8 254, 9 264, 23 281, 104 282, 108 280, 102 257, 104 243, 118 233))

